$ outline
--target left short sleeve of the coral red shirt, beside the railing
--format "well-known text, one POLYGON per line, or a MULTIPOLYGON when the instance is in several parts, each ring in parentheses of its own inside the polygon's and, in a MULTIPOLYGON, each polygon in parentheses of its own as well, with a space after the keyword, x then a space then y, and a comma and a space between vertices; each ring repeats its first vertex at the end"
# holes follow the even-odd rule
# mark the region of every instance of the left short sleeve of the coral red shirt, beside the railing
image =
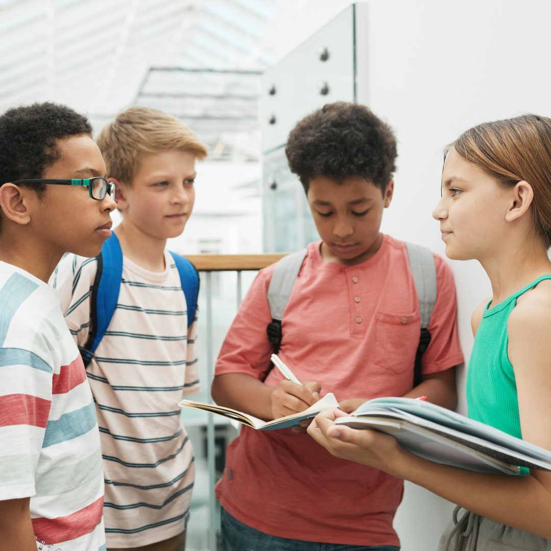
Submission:
POLYGON ((269 368, 273 346, 266 327, 272 321, 268 305, 268 285, 273 268, 258 272, 241 302, 220 349, 215 375, 245 373, 262 379, 269 368))

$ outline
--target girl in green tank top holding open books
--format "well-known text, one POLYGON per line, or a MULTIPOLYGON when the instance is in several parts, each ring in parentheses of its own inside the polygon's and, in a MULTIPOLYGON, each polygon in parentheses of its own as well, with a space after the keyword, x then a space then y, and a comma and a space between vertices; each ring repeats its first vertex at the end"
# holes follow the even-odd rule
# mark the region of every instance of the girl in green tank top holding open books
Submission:
MULTIPOLYGON (((492 288, 472 317, 468 415, 551 450, 551 119, 483 123, 444 159, 433 216, 446 255, 478 260, 492 288)), ((434 463, 392 436, 334 424, 342 415, 319 414, 309 434, 333 455, 458 504, 439 550, 551 551, 550 471, 494 475, 434 463)))

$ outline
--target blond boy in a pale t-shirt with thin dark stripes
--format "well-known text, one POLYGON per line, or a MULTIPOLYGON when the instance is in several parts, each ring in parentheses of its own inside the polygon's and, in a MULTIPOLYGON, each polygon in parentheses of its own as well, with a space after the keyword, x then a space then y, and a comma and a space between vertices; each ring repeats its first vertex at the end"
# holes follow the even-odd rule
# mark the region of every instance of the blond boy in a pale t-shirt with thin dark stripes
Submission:
MULTIPOLYGON (((195 464, 177 403, 199 388, 196 322, 187 321, 196 312, 165 245, 190 217, 195 161, 207 149, 179 120, 145 107, 120 113, 97 142, 122 214, 111 238, 123 257, 117 305, 87 367, 104 458, 107 548, 180 551, 195 464)), ((85 354, 97 271, 97 258, 68 255, 54 282, 85 354)))

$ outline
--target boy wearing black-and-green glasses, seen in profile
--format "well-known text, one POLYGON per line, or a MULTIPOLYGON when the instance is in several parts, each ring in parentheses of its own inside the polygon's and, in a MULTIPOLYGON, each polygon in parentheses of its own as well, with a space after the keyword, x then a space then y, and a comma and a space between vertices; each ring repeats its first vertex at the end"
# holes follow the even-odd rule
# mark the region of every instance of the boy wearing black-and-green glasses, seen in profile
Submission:
POLYGON ((86 117, 50 102, 0 116, 2 549, 105 549, 94 402, 47 285, 65 252, 97 255, 111 235, 104 176, 86 117))

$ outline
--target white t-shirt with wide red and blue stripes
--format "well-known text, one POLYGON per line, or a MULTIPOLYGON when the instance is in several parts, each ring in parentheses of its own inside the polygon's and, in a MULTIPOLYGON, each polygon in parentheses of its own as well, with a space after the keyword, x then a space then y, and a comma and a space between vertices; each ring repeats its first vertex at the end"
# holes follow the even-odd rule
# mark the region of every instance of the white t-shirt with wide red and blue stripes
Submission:
POLYGON ((57 293, 0 262, 0 500, 31 497, 38 541, 104 551, 98 422, 57 293))

